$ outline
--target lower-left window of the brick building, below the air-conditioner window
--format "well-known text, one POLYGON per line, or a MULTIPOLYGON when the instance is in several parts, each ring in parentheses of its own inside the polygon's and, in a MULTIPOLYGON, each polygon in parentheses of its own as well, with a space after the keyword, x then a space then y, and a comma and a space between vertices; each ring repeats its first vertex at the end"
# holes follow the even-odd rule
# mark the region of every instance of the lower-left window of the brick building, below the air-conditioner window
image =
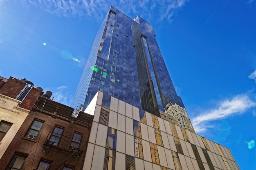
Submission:
POLYGON ((15 153, 6 170, 20 170, 27 158, 27 154, 15 153))

